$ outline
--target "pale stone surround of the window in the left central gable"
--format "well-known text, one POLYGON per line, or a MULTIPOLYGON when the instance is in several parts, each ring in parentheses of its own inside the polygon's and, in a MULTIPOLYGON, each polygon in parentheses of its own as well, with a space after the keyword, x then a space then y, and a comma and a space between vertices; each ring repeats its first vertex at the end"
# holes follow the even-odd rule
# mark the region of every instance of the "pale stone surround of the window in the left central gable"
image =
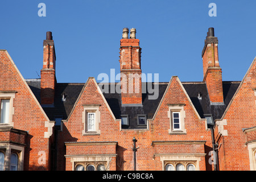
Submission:
POLYGON ((100 135, 100 106, 99 104, 84 104, 84 111, 82 111, 82 123, 84 124, 84 130, 82 135, 100 135), (95 131, 88 131, 87 113, 95 113, 95 131))

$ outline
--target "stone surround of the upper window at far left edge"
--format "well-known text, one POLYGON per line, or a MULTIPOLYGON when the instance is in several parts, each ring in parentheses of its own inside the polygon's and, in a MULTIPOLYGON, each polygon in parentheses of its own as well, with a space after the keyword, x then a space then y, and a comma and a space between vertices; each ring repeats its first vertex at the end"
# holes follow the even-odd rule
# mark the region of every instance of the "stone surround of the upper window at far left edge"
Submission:
POLYGON ((14 107, 13 102, 15 98, 15 91, 0 91, 0 100, 1 99, 10 99, 10 108, 9 108, 9 123, 0 123, 0 127, 6 127, 6 125, 14 126, 13 114, 14 107))

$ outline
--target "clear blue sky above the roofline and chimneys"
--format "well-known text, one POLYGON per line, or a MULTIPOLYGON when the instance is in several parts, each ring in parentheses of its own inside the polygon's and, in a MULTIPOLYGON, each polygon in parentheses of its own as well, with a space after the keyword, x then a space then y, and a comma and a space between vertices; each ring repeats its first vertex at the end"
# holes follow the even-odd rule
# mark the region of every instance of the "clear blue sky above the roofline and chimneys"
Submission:
POLYGON ((214 27, 222 80, 237 81, 256 56, 255 7, 252 0, 1 1, 0 49, 24 78, 38 78, 43 40, 52 31, 57 82, 86 82, 110 69, 119 73, 122 28, 136 28, 143 73, 159 73, 160 82, 203 81, 201 51, 214 27), (212 2, 216 17, 208 15, 212 2), (39 3, 46 17, 38 16, 39 3))

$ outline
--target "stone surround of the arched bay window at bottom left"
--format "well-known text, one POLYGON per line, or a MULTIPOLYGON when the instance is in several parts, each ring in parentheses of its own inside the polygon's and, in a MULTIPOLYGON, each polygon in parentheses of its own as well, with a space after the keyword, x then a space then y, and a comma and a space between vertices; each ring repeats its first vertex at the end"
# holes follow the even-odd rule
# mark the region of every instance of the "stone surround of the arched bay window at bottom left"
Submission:
POLYGON ((18 171, 23 171, 24 147, 11 143, 0 143, 0 151, 5 154, 5 171, 10 171, 11 161, 9 159, 13 153, 18 155, 18 171))

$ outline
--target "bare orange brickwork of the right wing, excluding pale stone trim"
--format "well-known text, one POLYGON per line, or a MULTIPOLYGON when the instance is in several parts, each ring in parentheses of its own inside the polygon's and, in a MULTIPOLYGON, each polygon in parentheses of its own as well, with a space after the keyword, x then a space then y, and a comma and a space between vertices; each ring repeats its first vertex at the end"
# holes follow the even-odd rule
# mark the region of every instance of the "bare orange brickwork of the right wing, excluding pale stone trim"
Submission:
MULTIPOLYGON (((227 125, 224 130, 228 135, 222 136, 220 169, 223 170, 250 170, 249 154, 246 146, 246 134, 243 129, 256 126, 256 64, 251 64, 246 76, 238 88, 234 100, 230 103, 228 111, 224 115, 227 125)), ((249 135, 247 137, 250 137, 249 135)))

